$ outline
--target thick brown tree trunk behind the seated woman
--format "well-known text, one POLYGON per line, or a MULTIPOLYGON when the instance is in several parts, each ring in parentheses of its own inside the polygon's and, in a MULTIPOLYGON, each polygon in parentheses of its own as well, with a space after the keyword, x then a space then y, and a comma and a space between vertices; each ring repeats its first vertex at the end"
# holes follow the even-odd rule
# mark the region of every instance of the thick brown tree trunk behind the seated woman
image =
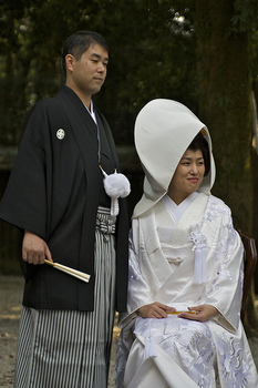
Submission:
MULTIPOLYGON (((196 0, 198 115, 213 140, 217 170, 213 193, 231 208, 235 227, 252 235, 248 34, 233 28, 233 16, 234 0, 196 0)), ((254 302, 250 313, 254 327, 258 321, 254 302)))

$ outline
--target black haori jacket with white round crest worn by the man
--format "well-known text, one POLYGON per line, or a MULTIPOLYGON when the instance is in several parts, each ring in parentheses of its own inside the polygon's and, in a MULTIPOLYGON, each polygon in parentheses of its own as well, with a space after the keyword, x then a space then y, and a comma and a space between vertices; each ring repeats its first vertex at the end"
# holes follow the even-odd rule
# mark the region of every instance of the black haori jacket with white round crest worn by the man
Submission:
MULTIPOLYGON (((106 120, 97 110, 95 114, 101 163, 110 174, 118 167, 115 145, 106 120)), ((90 274, 91 279, 87 284, 51 266, 21 259, 24 306, 93 310, 95 223, 102 187, 96 125, 78 95, 63 85, 55 98, 40 101, 30 113, 0 217, 42 237, 54 262, 90 274)), ((126 310, 127 233, 126 203, 120 200, 115 234, 117 312, 126 310)))

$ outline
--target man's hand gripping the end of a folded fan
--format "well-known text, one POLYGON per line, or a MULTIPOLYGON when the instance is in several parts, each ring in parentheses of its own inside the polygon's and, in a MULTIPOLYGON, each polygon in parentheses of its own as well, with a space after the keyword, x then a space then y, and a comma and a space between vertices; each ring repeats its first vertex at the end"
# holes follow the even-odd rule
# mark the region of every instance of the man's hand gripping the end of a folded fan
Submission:
POLYGON ((30 264, 44 264, 44 259, 48 258, 52 262, 50 249, 45 242, 37 234, 29 231, 24 232, 22 242, 22 258, 30 264))

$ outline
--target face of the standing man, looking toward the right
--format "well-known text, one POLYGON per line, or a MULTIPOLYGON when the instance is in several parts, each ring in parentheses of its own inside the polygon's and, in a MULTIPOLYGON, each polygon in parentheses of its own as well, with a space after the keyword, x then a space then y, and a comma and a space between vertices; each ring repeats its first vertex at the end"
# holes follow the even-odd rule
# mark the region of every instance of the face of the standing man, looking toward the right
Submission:
POLYGON ((75 92, 92 95, 100 91, 106 78, 109 53, 100 44, 92 44, 80 60, 66 55, 66 84, 75 92))

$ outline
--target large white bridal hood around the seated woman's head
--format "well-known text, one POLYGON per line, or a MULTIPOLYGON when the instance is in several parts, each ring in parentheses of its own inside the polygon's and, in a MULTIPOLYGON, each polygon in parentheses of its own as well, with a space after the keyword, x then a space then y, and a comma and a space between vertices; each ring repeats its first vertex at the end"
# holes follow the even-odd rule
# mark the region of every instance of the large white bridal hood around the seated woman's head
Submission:
POLYGON ((215 163, 206 125, 188 108, 173 100, 153 100, 140 111, 134 136, 145 180, 144 194, 134 208, 133 218, 145 213, 167 193, 182 156, 202 129, 205 129, 209 145, 210 171, 198 192, 208 194, 215 181, 215 163))

